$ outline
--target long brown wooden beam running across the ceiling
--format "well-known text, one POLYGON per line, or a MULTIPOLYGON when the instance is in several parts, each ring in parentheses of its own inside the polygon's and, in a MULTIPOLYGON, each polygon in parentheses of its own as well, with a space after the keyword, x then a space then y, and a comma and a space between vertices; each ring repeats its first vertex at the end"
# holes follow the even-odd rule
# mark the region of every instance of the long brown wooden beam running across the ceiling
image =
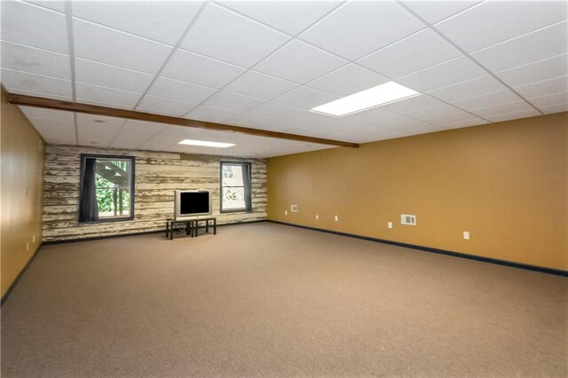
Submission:
POLYGON ((359 144, 357 143, 343 142, 341 140, 314 138, 304 135, 288 134, 286 132, 280 132, 280 131, 260 130, 248 127, 226 125, 223 123, 188 120, 185 118, 172 117, 169 115, 151 114, 151 113, 138 112, 135 110, 125 110, 125 109, 117 109, 114 107, 107 107, 107 106, 82 104, 78 102, 62 101, 59 99, 52 99, 52 98, 25 96, 9 92, 6 92, 6 100, 11 104, 21 105, 21 106, 36 106, 47 109, 65 110, 68 112, 104 115, 107 117, 116 117, 116 118, 127 118, 129 120, 167 123, 171 125, 192 127, 196 129, 237 132, 241 134, 254 135, 256 137, 288 139, 288 140, 295 140, 298 142, 317 143, 319 145, 342 146, 342 147, 352 147, 352 148, 359 147, 359 144))

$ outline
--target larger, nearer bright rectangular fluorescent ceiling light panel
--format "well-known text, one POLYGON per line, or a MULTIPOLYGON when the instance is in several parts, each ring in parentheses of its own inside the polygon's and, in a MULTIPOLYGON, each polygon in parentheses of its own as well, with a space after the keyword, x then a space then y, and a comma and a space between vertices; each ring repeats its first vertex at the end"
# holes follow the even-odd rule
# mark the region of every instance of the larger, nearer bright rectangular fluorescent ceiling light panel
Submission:
POLYGON ((385 105, 399 99, 416 96, 417 94, 417 91, 413 91, 398 83, 389 82, 365 91, 353 93, 321 106, 312 107, 312 110, 318 113, 340 116, 385 105))

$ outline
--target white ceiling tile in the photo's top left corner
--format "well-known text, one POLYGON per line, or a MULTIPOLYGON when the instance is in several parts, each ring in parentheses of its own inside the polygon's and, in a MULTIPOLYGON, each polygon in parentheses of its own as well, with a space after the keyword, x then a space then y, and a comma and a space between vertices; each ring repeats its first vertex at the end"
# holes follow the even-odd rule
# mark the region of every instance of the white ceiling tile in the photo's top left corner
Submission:
POLYGON ((65 14, 18 1, 3 1, 0 6, 4 41, 69 52, 65 14))

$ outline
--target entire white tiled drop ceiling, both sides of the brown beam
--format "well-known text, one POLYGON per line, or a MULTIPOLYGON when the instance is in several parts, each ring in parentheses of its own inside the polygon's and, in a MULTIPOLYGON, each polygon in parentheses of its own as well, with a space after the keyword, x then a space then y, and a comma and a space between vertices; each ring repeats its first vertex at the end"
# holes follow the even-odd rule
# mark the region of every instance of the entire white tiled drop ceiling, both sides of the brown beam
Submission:
MULTIPOLYGON (((568 110, 565 1, 3 1, 12 93, 365 143, 568 110), (421 94, 310 111, 395 81, 421 94)), ((269 157, 330 146, 21 106, 48 143, 269 157), (236 146, 182 146, 182 139, 236 146)))

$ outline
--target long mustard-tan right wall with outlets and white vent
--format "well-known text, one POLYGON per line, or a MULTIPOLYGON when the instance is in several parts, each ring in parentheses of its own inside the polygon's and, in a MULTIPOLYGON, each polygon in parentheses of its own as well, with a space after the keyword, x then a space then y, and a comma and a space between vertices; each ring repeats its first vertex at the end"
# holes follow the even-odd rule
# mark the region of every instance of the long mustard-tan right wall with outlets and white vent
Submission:
POLYGON ((276 157, 268 217, 568 270, 567 150, 563 113, 276 157))

